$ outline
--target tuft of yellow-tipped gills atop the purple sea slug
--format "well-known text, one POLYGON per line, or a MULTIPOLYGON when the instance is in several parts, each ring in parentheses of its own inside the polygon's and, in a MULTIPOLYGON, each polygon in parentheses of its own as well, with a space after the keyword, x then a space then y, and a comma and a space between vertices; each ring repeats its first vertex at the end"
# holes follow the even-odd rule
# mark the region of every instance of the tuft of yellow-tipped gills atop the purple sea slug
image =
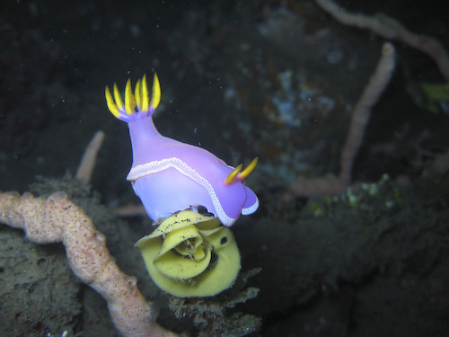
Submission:
POLYGON ((112 96, 110 88, 106 86, 105 96, 108 109, 119 120, 126 122, 151 116, 159 105, 159 102, 161 102, 161 84, 159 84, 159 78, 155 73, 151 101, 149 100, 146 75, 142 79, 137 80, 135 93, 132 91, 131 80, 128 79, 125 87, 125 103, 121 99, 117 84, 114 84, 113 92, 114 95, 112 96))

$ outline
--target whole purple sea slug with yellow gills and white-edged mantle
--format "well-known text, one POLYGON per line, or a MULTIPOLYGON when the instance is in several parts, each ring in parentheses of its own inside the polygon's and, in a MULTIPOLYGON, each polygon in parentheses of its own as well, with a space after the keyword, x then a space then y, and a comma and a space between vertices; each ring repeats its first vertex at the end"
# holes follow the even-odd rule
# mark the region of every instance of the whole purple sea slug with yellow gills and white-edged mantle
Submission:
POLYGON ((259 208, 256 194, 244 184, 257 164, 257 158, 241 172, 204 148, 163 137, 155 128, 152 114, 160 102, 159 79, 154 74, 149 100, 145 75, 132 93, 128 80, 125 103, 117 84, 114 97, 106 87, 108 108, 119 120, 128 122, 133 148, 133 164, 127 180, 153 220, 169 217, 186 208, 203 206, 225 226, 232 226, 240 215, 259 208))

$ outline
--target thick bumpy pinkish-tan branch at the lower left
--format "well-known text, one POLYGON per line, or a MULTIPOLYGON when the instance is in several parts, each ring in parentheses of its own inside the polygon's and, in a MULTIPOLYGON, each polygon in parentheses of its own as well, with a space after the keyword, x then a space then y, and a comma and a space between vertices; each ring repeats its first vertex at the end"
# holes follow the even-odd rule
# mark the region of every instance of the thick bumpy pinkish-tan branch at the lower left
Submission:
POLYGON ((119 270, 104 235, 65 193, 54 193, 47 200, 31 193, 0 193, 0 222, 22 228, 37 244, 62 242, 75 275, 106 299, 112 322, 122 335, 178 336, 155 322, 154 309, 136 287, 136 279, 119 270))

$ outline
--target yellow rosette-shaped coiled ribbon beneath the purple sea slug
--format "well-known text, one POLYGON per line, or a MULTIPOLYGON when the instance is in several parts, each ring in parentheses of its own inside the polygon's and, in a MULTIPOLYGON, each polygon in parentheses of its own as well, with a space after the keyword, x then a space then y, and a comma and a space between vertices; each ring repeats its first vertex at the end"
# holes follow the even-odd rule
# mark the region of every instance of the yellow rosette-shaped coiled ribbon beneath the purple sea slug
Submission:
POLYGON ((233 285, 240 253, 216 217, 183 210, 137 241, 154 283, 176 297, 214 296, 233 285))

